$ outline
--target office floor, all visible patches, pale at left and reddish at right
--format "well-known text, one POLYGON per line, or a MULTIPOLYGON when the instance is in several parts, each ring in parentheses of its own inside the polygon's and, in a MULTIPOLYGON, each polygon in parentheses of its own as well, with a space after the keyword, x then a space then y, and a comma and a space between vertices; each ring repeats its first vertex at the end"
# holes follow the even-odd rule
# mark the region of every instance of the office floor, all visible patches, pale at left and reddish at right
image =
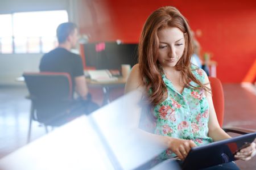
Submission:
MULTIPOLYGON (((92 90, 93 100, 102 102, 102 92, 92 90)), ((0 158, 26 145, 30 101, 24 86, 0 86, 0 158)), ((122 95, 119 89, 110 97, 122 95)), ((256 96, 240 84, 224 84, 225 117, 224 126, 236 126, 256 131, 256 96)), ((45 134, 44 128, 34 122, 32 141, 45 134)), ((249 162, 237 161, 241 169, 256 169, 256 158, 249 162)))

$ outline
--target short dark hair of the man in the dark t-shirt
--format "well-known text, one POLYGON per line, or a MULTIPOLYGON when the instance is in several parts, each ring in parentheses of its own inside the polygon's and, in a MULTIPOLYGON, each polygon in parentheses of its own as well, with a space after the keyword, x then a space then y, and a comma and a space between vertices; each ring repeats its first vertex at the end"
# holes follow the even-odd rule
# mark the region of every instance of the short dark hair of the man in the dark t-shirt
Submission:
POLYGON ((77 28, 75 23, 67 22, 62 23, 57 27, 57 39, 59 43, 63 43, 67 40, 67 37, 73 33, 77 28))

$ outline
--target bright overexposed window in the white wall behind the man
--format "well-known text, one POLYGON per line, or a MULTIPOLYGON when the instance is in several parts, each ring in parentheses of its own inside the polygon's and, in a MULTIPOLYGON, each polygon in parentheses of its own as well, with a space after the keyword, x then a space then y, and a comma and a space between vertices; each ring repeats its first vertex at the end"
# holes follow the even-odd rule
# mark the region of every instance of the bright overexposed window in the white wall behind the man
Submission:
POLYGON ((0 15, 0 53, 47 53, 57 45, 56 28, 65 10, 0 15))

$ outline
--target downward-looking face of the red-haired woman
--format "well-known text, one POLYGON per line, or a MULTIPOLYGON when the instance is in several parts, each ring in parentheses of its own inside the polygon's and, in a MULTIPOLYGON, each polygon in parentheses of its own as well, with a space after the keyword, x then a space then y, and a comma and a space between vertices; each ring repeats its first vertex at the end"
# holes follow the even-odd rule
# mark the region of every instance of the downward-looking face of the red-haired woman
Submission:
POLYGON ((185 48, 184 33, 176 27, 167 27, 158 31, 158 62, 163 68, 175 67, 185 48))

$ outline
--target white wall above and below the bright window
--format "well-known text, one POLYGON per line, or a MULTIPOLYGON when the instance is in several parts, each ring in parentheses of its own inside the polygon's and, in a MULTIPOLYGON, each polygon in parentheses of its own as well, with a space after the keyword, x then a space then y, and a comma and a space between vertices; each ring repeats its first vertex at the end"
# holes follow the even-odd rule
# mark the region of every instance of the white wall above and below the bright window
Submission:
MULTIPOLYGON (((79 0, 0 0, 0 14, 22 11, 67 10, 69 20, 76 22, 79 0)), ((24 71, 39 71, 43 54, 0 54, 0 85, 21 84, 15 78, 24 71)))

